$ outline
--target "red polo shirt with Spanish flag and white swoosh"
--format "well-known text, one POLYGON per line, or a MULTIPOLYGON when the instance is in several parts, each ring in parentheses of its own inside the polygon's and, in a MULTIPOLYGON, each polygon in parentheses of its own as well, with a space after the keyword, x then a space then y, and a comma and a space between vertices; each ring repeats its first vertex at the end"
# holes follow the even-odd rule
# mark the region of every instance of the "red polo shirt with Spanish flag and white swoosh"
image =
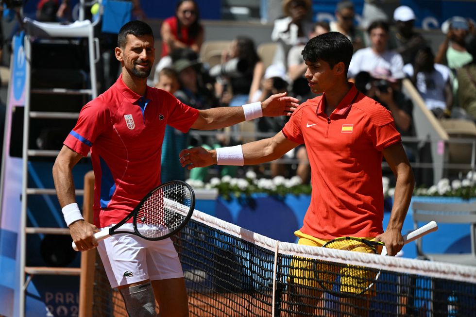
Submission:
POLYGON ((282 130, 306 144, 311 165, 313 190, 301 232, 323 239, 376 236, 383 232, 382 150, 400 134, 391 113, 355 85, 330 117, 323 96, 300 105, 282 130))

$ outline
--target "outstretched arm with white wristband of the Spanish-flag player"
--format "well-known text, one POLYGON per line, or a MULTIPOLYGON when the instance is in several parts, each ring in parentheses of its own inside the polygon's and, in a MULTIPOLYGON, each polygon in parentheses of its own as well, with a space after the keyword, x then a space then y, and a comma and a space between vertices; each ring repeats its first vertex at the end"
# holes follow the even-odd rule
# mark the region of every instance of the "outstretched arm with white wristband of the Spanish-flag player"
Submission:
MULTIPOLYGON (((237 147, 221 148, 217 150, 205 150, 204 148, 197 147, 182 150, 179 157, 182 167, 187 167, 187 169, 192 169, 194 167, 207 167, 213 164, 255 165, 276 160, 298 145, 298 143, 289 141, 282 132, 278 132, 273 137, 246 143, 237 147), (227 156, 226 153, 228 149, 234 149, 236 156, 233 157, 237 158, 236 164, 226 164, 227 161, 222 161, 225 162, 225 164, 220 164, 220 157, 217 157, 217 152, 223 153, 224 151, 225 156, 227 156)), ((220 156, 220 154, 218 156, 220 156)), ((230 160, 234 160, 234 158, 231 158, 228 161, 230 160)))

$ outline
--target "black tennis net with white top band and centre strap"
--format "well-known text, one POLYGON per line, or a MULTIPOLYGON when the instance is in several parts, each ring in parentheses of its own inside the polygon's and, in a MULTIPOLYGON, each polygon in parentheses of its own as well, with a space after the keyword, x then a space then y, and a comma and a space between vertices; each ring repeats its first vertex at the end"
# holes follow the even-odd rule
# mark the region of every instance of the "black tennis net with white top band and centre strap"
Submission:
MULTIPOLYGON (((475 267, 280 242, 200 211, 172 240, 190 316, 476 316, 475 267)), ((94 316, 127 316, 103 298, 94 316)))

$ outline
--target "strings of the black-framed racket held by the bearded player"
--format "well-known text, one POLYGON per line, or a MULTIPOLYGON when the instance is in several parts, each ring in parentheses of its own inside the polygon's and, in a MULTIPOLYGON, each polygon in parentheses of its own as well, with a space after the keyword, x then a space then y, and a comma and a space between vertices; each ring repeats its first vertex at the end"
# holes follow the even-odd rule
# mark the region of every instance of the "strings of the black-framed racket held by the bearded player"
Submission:
POLYGON ((158 238, 179 227, 191 206, 187 186, 171 184, 158 188, 145 200, 137 213, 137 231, 146 238, 158 238))

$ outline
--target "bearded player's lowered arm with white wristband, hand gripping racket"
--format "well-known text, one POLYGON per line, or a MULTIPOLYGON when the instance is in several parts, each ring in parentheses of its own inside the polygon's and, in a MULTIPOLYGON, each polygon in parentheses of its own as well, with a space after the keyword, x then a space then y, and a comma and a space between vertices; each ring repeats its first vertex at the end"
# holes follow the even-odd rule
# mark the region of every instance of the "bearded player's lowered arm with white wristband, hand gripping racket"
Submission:
POLYGON ((98 245, 94 238, 94 233, 98 228, 84 221, 82 218, 76 219, 79 208, 76 204, 76 195, 73 182, 73 167, 83 158, 80 154, 63 146, 53 166, 53 180, 56 188, 56 195, 62 208, 65 220, 67 221, 71 238, 78 247, 78 250, 85 251, 98 245), (66 208, 64 208, 66 206, 66 208), (73 208, 76 208, 75 211, 73 208), (76 217, 76 218, 74 218, 76 217), (73 222, 68 223, 70 220, 73 222))

